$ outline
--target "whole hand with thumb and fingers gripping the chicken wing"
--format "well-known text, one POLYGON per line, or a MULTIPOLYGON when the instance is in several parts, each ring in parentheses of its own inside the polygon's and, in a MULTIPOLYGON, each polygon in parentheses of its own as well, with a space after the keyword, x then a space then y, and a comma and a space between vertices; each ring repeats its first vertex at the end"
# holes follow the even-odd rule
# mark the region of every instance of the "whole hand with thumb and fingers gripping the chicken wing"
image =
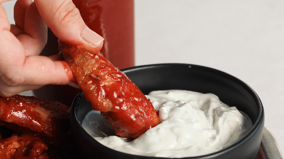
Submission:
MULTIPOLYGON (((0 0, 0 4, 8 0, 0 0)), ((103 38, 88 29, 72 0, 17 0, 15 25, 0 5, 0 95, 9 97, 43 85, 66 85, 69 66, 57 55, 39 56, 47 42, 47 26, 66 42, 98 51, 103 38)), ((54 52, 57 54, 57 52, 54 52)))

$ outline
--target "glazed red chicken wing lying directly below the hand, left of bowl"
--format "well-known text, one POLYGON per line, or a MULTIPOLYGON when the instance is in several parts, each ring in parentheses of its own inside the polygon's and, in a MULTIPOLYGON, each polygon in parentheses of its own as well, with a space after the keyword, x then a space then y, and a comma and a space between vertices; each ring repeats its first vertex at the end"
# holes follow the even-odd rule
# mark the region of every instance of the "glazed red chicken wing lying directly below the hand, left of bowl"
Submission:
POLYGON ((57 101, 21 95, 0 98, 0 125, 21 134, 54 138, 69 126, 69 114, 70 107, 57 101))

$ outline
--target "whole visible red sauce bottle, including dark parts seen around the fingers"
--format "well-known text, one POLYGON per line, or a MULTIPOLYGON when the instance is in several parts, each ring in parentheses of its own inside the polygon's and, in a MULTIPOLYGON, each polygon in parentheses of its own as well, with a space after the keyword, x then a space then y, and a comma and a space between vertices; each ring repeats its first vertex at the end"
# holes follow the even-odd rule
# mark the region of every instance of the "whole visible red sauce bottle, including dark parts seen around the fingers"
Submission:
MULTIPOLYGON (((134 0, 73 0, 86 25, 104 37, 101 53, 119 69, 134 66, 134 0)), ((57 38, 48 30, 48 42, 41 55, 58 52, 57 38)), ((78 89, 47 85, 33 93, 43 100, 57 100, 71 106, 78 89)))

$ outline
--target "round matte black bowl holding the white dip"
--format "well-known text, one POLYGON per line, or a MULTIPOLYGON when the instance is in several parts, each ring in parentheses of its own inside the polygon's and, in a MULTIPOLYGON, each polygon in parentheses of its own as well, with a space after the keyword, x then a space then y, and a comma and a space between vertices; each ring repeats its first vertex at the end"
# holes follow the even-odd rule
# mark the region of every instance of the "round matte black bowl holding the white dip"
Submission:
MULTIPOLYGON (((191 90, 214 93, 229 106, 235 106, 251 119, 253 127, 237 143, 209 155, 187 159, 255 159, 264 127, 262 102, 254 90, 243 81, 225 72, 193 64, 153 64, 122 70, 144 94, 153 90, 191 90)), ((82 128, 91 104, 78 93, 73 101, 70 117, 71 128, 81 158, 158 159, 121 153, 101 145, 82 128)))

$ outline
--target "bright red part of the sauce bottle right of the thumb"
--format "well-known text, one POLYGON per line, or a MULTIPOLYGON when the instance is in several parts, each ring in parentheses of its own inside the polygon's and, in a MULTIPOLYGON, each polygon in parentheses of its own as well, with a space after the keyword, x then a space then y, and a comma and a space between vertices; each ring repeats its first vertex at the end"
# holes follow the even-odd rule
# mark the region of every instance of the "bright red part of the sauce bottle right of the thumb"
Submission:
POLYGON ((134 66, 134 1, 73 0, 86 25, 104 37, 101 53, 119 69, 134 66))

